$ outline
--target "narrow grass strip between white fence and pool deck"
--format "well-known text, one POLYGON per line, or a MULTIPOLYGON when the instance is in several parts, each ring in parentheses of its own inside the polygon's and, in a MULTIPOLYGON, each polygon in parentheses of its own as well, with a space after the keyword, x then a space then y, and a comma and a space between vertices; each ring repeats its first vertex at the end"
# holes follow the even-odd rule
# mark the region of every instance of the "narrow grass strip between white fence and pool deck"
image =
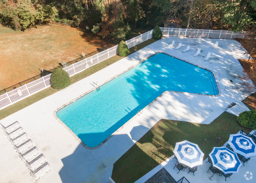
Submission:
MULTIPOLYGON (((139 49, 142 49, 142 48, 146 47, 147 45, 150 45, 151 43, 154 43, 154 42, 156 42, 156 40, 154 40, 154 39, 149 39, 145 42, 142 42, 142 43, 130 48, 129 54, 132 54, 135 51, 138 51, 139 49)), ((115 63, 118 60, 121 60, 122 58, 124 58, 124 57, 115 55, 107 60, 104 60, 96 65, 93 65, 92 67, 89 67, 85 71, 82 71, 82 72, 72 76, 70 78, 70 84, 78 82, 78 81, 82 80, 83 78, 86 78, 87 76, 89 76, 97 71, 100 71, 101 69, 103 69, 105 67, 108 67, 108 65, 111 65, 112 63, 115 63)), ((0 120, 2 120, 3 118, 6 118, 7 116, 25 108, 25 107, 28 107, 29 105, 47 97, 47 96, 50 96, 51 94, 54 94, 57 91, 58 90, 55 90, 52 87, 49 87, 47 89, 44 89, 43 91, 35 93, 32 96, 29 96, 28 98, 25 98, 21 101, 18 101, 17 103, 14 103, 13 105, 10 105, 10 106, 0 110, 0 120)))

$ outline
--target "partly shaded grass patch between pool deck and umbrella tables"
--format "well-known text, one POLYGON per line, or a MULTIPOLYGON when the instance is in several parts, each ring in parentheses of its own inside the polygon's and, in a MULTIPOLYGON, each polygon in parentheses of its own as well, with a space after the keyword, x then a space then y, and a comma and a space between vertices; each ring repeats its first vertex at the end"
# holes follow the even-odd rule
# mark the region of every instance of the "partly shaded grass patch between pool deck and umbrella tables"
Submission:
POLYGON ((237 116, 228 112, 209 125, 160 120, 115 162, 112 179, 116 183, 136 181, 172 156, 176 142, 183 140, 198 144, 206 159, 213 147, 221 147, 230 134, 241 129, 250 132, 237 123, 237 116))

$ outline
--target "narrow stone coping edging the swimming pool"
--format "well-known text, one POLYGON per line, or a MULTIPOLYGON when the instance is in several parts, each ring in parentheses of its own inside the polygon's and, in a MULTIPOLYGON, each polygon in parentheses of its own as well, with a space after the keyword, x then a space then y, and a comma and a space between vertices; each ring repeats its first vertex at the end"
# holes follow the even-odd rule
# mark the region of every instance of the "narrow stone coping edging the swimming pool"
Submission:
POLYGON ((161 96, 163 96, 163 94, 165 94, 165 93, 167 93, 167 92, 189 93, 189 94, 195 94, 195 95, 206 95, 206 96, 215 96, 215 97, 217 97, 217 96, 219 96, 219 95, 221 94, 221 90, 220 90, 220 87, 219 87, 219 82, 218 82, 218 80, 217 80, 217 76, 216 76, 216 74, 215 74, 213 71, 211 71, 210 69, 206 69, 206 68, 204 68, 204 67, 201 67, 200 65, 196 65, 196 64, 190 63, 190 62, 188 62, 188 61, 186 61, 186 60, 183 60, 183 59, 181 59, 181 58, 178 58, 178 57, 176 57, 176 56, 173 56, 173 55, 168 54, 168 53, 165 53, 165 52, 155 52, 154 54, 151 54, 151 55, 148 56, 147 58, 141 59, 140 62, 137 62, 136 64, 132 65, 132 66, 129 67, 128 69, 125 69, 124 71, 120 72, 119 74, 116 74, 116 75, 113 76, 112 78, 106 80, 106 82, 101 83, 101 84, 99 85, 99 87, 101 87, 102 85, 104 85, 104 84, 110 82, 111 80, 117 78, 117 77, 120 76, 121 74, 124 74, 125 72, 127 72, 127 71, 129 71, 130 69, 136 67, 137 65, 139 65, 139 64, 141 64, 141 63, 143 63, 143 62, 145 62, 145 60, 147 60, 148 58, 150 58, 150 57, 152 57, 152 56, 154 56, 155 54, 158 54, 158 53, 167 54, 167 55, 169 55, 169 56, 171 56, 171 57, 173 57, 173 58, 182 60, 183 62, 189 63, 189 64, 191 64, 191 65, 195 65, 196 67, 202 68, 202 69, 204 69, 204 70, 206 70, 206 71, 209 71, 209 72, 213 73, 214 79, 215 79, 215 81, 216 81, 216 85, 217 85, 217 88, 218 88, 218 91, 219 91, 219 94, 217 94, 217 95, 208 95, 208 94, 197 94, 197 93, 191 93, 191 92, 164 91, 164 92, 163 92, 162 94, 160 94, 155 100, 153 100, 152 102, 150 102, 150 103, 149 103, 146 107, 144 107, 143 109, 140 109, 140 110, 135 114, 135 116, 133 116, 130 120, 128 120, 126 123, 124 123, 121 127, 119 127, 119 129, 117 129, 115 132, 113 132, 108 138, 106 138, 104 141, 102 141, 102 143, 100 143, 99 145, 97 145, 97 146, 95 146, 95 147, 89 147, 89 146, 87 146, 85 143, 83 143, 83 141, 82 141, 72 130, 70 130, 70 128, 69 128, 65 123, 63 123, 63 121, 61 121, 61 120, 58 118, 58 116, 56 115, 56 112, 58 112, 60 109, 62 109, 62 108, 64 108, 64 107, 66 107, 66 106, 69 105, 70 103, 73 103, 74 101, 76 101, 76 100, 82 98, 83 96, 89 94, 90 92, 94 91, 94 90, 96 89, 96 87, 93 87, 93 88, 90 89, 89 91, 87 91, 87 92, 81 94, 80 96, 78 96, 78 97, 76 97, 76 98, 70 100, 69 102, 65 103, 64 105, 61 105, 60 107, 58 107, 58 108, 57 108, 56 110, 54 110, 54 112, 53 112, 54 118, 56 118, 56 120, 58 121, 58 123, 62 124, 62 125, 72 134, 72 136, 74 136, 75 140, 78 141, 85 149, 95 150, 95 149, 98 149, 99 147, 101 147, 104 143, 106 143, 111 137, 115 136, 115 135, 117 134, 117 132, 119 132, 122 128, 124 128, 126 125, 128 125, 132 120, 134 120, 135 118, 137 118, 138 116, 140 116, 141 114, 143 114, 143 111, 144 111, 145 109, 147 109, 147 108, 148 108, 150 105, 152 105, 155 101, 159 100, 159 98, 160 98, 161 96))

